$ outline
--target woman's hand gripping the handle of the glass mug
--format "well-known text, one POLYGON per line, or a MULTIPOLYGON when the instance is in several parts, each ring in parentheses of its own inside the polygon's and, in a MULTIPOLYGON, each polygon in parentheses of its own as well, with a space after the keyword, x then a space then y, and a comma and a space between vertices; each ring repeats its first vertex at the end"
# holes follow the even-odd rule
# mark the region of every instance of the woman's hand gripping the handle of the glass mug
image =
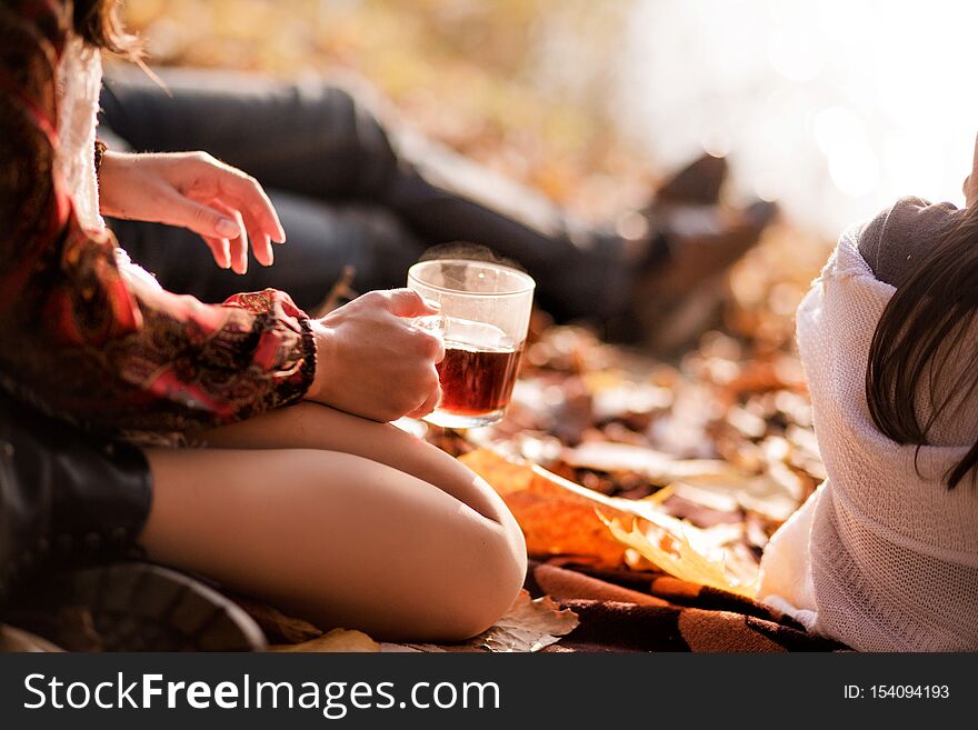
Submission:
POLYGON ((313 321, 316 378, 309 400, 375 421, 420 418, 438 406, 441 339, 415 317, 438 310, 409 289, 371 291, 313 321))

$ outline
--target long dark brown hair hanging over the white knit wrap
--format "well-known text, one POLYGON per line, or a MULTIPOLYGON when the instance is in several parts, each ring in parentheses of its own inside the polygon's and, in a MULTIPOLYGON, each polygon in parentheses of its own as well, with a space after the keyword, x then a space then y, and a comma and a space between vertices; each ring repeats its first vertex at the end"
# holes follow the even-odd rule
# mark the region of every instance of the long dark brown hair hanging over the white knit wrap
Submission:
MULTIPOLYGON (((978 352, 962 357, 978 314, 978 207, 962 214, 920 260, 884 309, 869 348, 866 398, 877 428, 897 443, 928 443, 927 434, 952 400, 978 392, 978 352), (952 367, 948 367, 952 363, 952 367), (936 379, 952 379, 940 387, 936 379), (921 422, 917 397, 931 399, 921 422)), ((945 479, 954 489, 978 466, 976 442, 945 479)))

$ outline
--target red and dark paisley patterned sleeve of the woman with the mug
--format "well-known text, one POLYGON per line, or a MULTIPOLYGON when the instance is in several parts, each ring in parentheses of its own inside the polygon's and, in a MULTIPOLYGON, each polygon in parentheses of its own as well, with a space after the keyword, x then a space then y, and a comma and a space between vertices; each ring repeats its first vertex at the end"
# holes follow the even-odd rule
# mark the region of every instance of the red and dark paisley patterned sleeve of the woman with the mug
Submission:
POLYGON ((212 306, 129 283, 111 233, 80 228, 53 171, 67 4, 0 6, 0 381, 106 430, 186 431, 299 400, 316 351, 287 294, 212 306))

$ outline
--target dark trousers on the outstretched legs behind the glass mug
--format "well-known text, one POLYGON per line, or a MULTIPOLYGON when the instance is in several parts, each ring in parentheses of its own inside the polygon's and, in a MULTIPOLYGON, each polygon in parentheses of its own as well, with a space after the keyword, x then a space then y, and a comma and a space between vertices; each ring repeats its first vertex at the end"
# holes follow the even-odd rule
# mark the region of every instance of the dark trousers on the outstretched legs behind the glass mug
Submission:
MULTIPOLYGON (((168 289, 219 301, 273 287, 300 307, 320 302, 343 266, 353 288, 401 287, 429 247, 488 247, 537 280, 558 318, 618 313, 629 291, 622 243, 572 221, 533 191, 501 180, 409 132, 392 134, 350 91, 229 72, 110 73, 100 137, 137 151, 206 150, 255 176, 288 234, 276 263, 243 277, 219 270, 197 237, 110 221, 120 243, 168 289)), ((252 262, 253 263, 253 262, 252 262)))

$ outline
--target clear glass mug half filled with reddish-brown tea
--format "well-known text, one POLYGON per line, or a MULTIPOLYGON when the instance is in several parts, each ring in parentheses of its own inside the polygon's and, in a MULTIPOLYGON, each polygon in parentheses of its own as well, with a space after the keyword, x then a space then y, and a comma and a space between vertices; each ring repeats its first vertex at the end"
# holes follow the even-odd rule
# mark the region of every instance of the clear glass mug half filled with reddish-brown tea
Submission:
POLYGON ((468 429, 495 423, 506 413, 530 326, 536 283, 499 263, 437 259, 408 270, 408 289, 441 304, 418 327, 445 340, 438 364, 441 401, 425 420, 468 429))

